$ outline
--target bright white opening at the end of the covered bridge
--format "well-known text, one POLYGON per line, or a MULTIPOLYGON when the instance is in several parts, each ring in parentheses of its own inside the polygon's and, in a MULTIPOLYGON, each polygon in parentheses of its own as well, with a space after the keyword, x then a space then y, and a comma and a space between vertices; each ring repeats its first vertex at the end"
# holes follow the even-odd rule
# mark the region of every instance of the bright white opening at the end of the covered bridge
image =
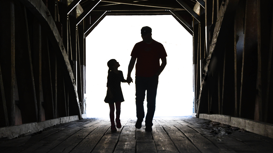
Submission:
MULTIPOLYGON (((106 16, 86 38, 86 111, 87 117, 109 117, 104 102, 108 75, 107 62, 116 59, 127 78, 130 54, 142 41, 140 29, 152 28, 152 38, 167 52, 167 65, 159 76, 155 117, 191 115, 193 110, 192 36, 171 15, 106 16)), ((131 77, 135 81, 135 69, 131 77)), ((135 118, 135 84, 121 83, 125 102, 121 118, 135 118)), ((145 114, 147 102, 144 101, 145 114)))

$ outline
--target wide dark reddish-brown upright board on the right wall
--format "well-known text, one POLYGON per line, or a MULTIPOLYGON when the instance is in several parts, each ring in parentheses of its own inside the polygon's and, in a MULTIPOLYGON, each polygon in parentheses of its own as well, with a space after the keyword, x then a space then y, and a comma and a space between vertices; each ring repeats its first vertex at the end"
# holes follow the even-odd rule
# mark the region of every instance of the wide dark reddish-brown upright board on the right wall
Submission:
POLYGON ((245 41, 242 63, 241 95, 239 117, 254 120, 257 69, 258 69, 258 41, 257 41, 257 1, 246 1, 245 41), (253 81, 255 80, 255 81, 253 81))

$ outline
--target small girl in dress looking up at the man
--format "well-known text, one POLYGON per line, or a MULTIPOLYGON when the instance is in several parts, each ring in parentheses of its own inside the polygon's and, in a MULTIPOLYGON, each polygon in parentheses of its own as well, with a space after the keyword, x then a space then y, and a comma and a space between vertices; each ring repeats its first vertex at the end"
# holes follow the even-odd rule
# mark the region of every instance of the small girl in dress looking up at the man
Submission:
POLYGON ((111 131, 117 131, 115 126, 115 106, 116 105, 116 123, 117 128, 121 128, 120 124, 120 104, 124 102, 123 94, 120 87, 120 82, 126 82, 123 77, 122 71, 118 70, 120 66, 119 63, 115 59, 111 59, 107 62, 108 69, 108 77, 107 77, 107 93, 104 99, 105 103, 109 104, 110 108, 110 121, 111 121, 111 131))

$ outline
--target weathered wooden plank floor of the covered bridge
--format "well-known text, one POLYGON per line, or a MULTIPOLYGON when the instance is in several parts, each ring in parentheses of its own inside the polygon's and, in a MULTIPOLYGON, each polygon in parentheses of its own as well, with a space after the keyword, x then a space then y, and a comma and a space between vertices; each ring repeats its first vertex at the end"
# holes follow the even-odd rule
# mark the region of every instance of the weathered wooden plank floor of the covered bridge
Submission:
POLYGON ((0 139, 0 152, 82 153, 252 153, 273 152, 273 139, 210 120, 154 118, 152 132, 135 128, 136 118, 121 119, 111 132, 106 118, 87 118, 15 139, 0 139))

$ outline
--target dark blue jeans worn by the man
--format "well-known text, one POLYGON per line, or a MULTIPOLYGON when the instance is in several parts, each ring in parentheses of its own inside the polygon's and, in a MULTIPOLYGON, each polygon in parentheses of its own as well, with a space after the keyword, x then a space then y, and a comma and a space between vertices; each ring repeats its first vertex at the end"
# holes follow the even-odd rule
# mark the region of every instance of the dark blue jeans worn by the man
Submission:
POLYGON ((147 90, 147 114, 145 118, 145 125, 153 126, 153 116, 155 114, 155 99, 158 86, 158 76, 153 77, 137 77, 135 79, 136 84, 136 117, 138 120, 143 120, 145 99, 145 91, 147 90))

